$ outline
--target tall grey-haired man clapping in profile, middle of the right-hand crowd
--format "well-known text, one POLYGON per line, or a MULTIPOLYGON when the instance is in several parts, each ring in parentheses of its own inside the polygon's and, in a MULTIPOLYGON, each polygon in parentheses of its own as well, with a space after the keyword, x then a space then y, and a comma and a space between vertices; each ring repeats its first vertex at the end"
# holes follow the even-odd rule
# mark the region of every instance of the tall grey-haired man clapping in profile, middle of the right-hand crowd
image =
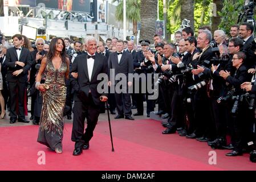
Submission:
MULTIPOLYGON (((196 53, 193 56, 193 80, 198 82, 204 81, 205 75, 199 76, 204 72, 205 60, 210 60, 214 57, 210 42, 212 41, 212 33, 209 30, 204 30, 197 37, 197 47, 202 50, 202 53, 196 53), (197 69, 196 69, 197 68, 197 69)), ((207 81, 205 81, 207 82, 207 81)), ((210 123, 210 110, 209 110, 209 97, 207 95, 206 84, 194 93, 194 121, 196 130, 190 135, 186 135, 187 138, 197 138, 200 142, 208 142, 209 137, 209 123, 210 123)))

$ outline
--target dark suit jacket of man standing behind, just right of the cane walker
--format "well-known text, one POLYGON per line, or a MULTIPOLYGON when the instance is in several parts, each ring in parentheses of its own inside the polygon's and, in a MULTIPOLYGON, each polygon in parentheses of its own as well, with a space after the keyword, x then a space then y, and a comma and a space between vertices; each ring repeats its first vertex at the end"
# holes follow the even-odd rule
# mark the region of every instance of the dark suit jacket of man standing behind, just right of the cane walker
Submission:
MULTIPOLYGON (((133 60, 132 54, 126 51, 123 51, 120 63, 118 63, 117 52, 110 53, 108 57, 108 68, 115 69, 115 76, 118 73, 124 73, 128 78, 128 73, 133 73, 133 60)), ((128 80, 132 81, 132 80, 128 80)))

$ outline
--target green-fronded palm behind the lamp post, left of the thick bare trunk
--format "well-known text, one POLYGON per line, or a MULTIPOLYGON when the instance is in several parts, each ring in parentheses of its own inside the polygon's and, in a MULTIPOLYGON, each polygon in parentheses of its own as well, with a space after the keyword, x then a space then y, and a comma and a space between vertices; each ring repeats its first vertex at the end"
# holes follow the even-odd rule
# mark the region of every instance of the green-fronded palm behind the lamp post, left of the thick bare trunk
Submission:
MULTIPOLYGON (((119 2, 119 5, 116 7, 116 19, 123 22, 123 0, 113 0, 113 2, 119 2)), ((127 20, 132 22, 133 25, 133 35, 137 35, 137 24, 140 21, 140 1, 138 0, 127 0, 126 1, 126 17, 127 20)))

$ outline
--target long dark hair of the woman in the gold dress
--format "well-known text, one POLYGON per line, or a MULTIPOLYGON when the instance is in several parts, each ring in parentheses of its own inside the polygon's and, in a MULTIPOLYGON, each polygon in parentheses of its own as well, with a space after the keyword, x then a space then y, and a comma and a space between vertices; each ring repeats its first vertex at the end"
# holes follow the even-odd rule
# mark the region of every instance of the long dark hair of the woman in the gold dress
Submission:
POLYGON ((58 43, 58 40, 62 40, 62 43, 63 43, 63 49, 62 49, 62 52, 60 53, 60 57, 62 57, 62 62, 64 64, 67 64, 66 63, 66 57, 67 57, 66 47, 65 47, 65 44, 64 44, 64 40, 62 38, 54 38, 54 39, 51 40, 49 51, 47 53, 47 61, 52 60, 52 58, 55 56, 56 44, 58 43))

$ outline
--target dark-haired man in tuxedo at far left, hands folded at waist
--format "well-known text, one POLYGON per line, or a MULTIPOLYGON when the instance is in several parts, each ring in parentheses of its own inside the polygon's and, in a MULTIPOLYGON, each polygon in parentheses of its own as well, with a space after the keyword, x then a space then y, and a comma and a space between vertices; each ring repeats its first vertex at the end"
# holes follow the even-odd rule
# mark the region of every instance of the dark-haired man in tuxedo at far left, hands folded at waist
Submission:
POLYGON ((17 120, 17 93, 18 122, 28 123, 24 113, 24 93, 26 92, 27 72, 31 67, 31 55, 29 49, 21 46, 21 35, 16 34, 12 39, 14 47, 7 49, 5 60, 8 67, 6 81, 9 82, 10 91, 10 123, 15 123, 17 120))

